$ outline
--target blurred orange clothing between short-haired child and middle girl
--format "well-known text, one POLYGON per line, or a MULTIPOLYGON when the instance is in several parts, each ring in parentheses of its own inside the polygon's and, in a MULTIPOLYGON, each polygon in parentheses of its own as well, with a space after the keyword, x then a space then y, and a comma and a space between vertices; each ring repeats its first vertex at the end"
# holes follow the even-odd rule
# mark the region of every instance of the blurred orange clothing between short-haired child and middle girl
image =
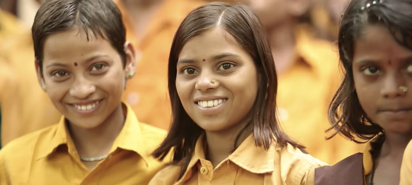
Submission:
POLYGON ((127 82, 124 99, 132 106, 139 120, 169 129, 171 104, 167 90, 167 66, 173 36, 190 11, 204 4, 200 0, 165 0, 147 27, 147 35, 137 42, 130 18, 122 0, 116 0, 127 29, 127 39, 137 50, 140 59, 136 73, 127 82))

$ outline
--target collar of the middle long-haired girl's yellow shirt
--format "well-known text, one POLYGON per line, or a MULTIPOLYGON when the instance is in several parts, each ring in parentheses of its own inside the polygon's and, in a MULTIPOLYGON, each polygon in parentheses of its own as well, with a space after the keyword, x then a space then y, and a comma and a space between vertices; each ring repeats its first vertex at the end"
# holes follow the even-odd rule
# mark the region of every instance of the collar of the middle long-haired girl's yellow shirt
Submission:
MULTIPOLYGON (((196 142, 194 154, 192 155, 187 170, 181 179, 182 181, 191 176, 192 168, 199 160, 205 159, 204 141, 205 136, 202 134, 196 142)), ((263 146, 255 146, 255 137, 253 134, 250 134, 226 160, 233 162, 240 168, 251 173, 272 173, 274 171, 275 153, 277 148, 275 141, 272 141, 268 150, 265 150, 263 146)))

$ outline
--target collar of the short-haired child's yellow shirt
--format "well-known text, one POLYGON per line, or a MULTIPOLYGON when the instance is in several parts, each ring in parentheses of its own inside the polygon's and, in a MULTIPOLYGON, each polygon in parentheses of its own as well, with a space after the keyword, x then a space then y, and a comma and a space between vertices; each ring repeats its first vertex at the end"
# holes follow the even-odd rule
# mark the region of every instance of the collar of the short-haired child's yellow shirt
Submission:
MULTIPOLYGON (((112 148, 110 149, 110 153, 115 151, 117 148, 131 150, 140 155, 147 165, 147 158, 150 153, 147 153, 147 147, 145 146, 142 131, 140 129, 140 123, 129 104, 122 103, 122 106, 124 110, 123 112, 126 114, 126 119, 124 121, 122 130, 120 131, 119 135, 113 143, 112 148)), ((39 145, 41 145, 39 147, 44 148, 43 150, 41 150, 44 152, 42 153, 42 155, 39 155, 37 159, 52 155, 56 151, 57 147, 63 144, 66 144, 68 146, 69 153, 75 151, 75 145, 70 137, 66 125, 66 118, 64 118, 64 116, 60 119, 56 129, 53 132, 46 134, 44 137, 46 137, 45 139, 49 140, 50 143, 39 142, 39 145)))

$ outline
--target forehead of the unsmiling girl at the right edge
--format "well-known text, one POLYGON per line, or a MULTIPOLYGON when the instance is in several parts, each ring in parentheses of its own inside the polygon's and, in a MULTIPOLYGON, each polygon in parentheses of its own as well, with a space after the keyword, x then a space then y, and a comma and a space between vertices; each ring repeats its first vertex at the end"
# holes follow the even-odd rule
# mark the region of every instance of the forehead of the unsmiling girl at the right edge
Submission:
POLYGON ((366 26, 354 43, 353 59, 363 57, 397 60, 412 54, 394 39, 389 29, 383 25, 366 26))

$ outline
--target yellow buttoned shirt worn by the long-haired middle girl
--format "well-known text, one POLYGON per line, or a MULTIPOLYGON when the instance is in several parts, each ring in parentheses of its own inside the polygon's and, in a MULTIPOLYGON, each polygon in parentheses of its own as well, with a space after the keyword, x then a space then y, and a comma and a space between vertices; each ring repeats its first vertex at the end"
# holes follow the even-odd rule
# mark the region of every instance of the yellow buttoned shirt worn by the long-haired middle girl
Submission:
POLYGON ((253 134, 213 169, 205 160, 204 136, 199 137, 184 176, 181 166, 169 165, 149 185, 313 185, 314 169, 325 163, 302 153, 290 144, 272 142, 268 150, 256 147, 253 134))

